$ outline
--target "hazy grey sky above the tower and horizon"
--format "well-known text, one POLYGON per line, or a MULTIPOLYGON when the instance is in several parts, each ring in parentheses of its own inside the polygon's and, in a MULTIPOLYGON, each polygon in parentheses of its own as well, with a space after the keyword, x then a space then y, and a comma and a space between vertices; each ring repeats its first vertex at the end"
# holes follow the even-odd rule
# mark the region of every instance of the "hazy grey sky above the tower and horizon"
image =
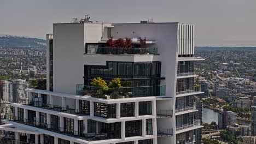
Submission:
POLYGON ((73 17, 195 25, 196 46, 256 46, 256 0, 0 0, 0 34, 45 39, 73 17))

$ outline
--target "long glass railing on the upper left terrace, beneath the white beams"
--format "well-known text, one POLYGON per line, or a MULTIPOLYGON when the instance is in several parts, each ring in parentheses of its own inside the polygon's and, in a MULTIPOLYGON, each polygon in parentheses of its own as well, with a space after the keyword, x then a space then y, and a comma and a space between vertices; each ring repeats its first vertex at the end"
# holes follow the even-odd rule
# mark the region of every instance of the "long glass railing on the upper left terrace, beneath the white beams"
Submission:
POLYGON ((22 104, 22 105, 28 105, 28 106, 33 106, 33 107, 38 107, 41 109, 46 109, 46 110, 52 110, 52 111, 57 111, 57 112, 65 112, 73 115, 79 115, 79 116, 86 116, 90 115, 89 110, 88 111, 83 111, 83 110, 77 110, 77 109, 69 109, 67 107, 62 107, 59 105, 51 105, 51 104, 44 104, 42 101, 27 101, 27 100, 19 100, 15 101, 17 104, 22 104))

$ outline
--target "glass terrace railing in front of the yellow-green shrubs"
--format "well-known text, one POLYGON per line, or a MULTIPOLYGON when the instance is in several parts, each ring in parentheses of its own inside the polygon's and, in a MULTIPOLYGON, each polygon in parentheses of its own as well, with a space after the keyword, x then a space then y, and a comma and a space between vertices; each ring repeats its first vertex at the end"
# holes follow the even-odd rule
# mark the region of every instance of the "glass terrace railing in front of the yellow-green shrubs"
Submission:
POLYGON ((165 85, 120 88, 101 88, 84 86, 84 84, 78 84, 76 86, 77 95, 90 95, 91 97, 110 99, 164 96, 165 90, 165 85))

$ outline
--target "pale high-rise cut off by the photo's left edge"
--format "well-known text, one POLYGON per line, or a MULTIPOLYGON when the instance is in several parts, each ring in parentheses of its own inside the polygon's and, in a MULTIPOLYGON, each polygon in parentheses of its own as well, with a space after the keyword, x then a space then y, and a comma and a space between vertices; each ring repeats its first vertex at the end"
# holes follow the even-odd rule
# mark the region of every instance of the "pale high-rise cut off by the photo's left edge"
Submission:
POLYGON ((0 95, 4 101, 13 101, 13 83, 9 81, 0 81, 0 95))

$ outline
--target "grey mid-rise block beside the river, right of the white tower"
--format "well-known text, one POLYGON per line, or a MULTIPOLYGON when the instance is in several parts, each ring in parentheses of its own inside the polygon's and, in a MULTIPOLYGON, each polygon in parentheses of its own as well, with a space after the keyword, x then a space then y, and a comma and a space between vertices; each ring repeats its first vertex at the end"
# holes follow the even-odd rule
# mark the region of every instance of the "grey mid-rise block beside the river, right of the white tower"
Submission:
POLYGON ((232 111, 221 111, 219 112, 219 128, 226 129, 228 125, 236 123, 236 113, 232 111))

